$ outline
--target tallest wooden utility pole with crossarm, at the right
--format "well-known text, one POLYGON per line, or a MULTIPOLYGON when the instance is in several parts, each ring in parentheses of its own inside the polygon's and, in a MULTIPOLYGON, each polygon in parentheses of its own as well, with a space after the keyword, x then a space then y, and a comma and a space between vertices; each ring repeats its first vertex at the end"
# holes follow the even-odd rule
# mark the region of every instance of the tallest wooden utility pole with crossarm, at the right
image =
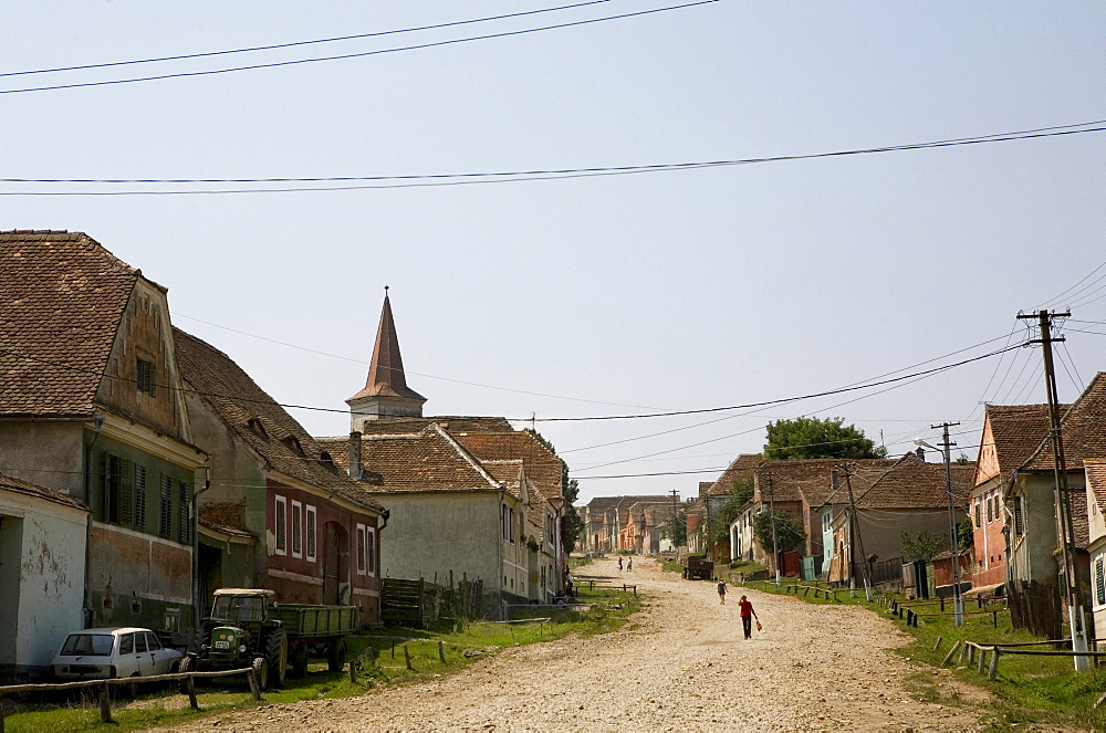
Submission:
MULTIPOLYGON (((1041 338, 1029 343, 1041 344, 1044 355, 1044 386, 1048 397, 1048 420, 1052 437, 1053 475, 1056 483, 1056 528, 1060 545, 1064 555, 1064 577, 1067 580, 1067 624, 1072 630, 1072 651, 1087 651, 1087 627, 1083 615, 1083 603, 1079 593, 1079 579, 1075 568, 1075 527, 1072 522, 1072 494, 1067 490, 1067 465, 1064 462, 1064 438, 1060 421, 1060 397, 1056 390, 1056 371, 1052 363, 1052 345, 1065 341, 1063 336, 1052 336, 1052 320, 1067 318, 1071 311, 1064 313, 1019 313, 1021 320, 1036 318, 1041 328, 1041 338)), ((1073 657, 1076 670, 1089 669, 1087 657, 1073 657)))

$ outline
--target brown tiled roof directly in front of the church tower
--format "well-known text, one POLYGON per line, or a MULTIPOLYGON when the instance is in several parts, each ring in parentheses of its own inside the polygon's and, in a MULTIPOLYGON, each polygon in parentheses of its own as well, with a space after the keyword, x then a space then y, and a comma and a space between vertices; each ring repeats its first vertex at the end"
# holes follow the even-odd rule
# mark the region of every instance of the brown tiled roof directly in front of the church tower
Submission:
MULTIPOLYGON (((348 440, 320 438, 319 442, 331 450, 336 463, 347 468, 348 440)), ((383 480, 373 491, 426 493, 500 488, 500 481, 476 457, 434 423, 421 432, 363 434, 361 446, 365 469, 383 480)))

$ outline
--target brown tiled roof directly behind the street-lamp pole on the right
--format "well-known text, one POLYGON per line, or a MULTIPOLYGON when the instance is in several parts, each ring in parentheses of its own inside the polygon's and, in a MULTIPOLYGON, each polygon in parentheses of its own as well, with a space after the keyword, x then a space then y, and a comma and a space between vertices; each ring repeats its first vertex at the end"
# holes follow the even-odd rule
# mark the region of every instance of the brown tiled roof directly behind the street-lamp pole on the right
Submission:
MULTIPOLYGON (((974 463, 953 463, 952 496, 957 506, 968 502, 974 463)), ((854 492, 856 488, 854 486, 854 492)), ((863 509, 943 509, 949 505, 943 463, 927 463, 907 453, 879 477, 863 495, 856 496, 863 509)))

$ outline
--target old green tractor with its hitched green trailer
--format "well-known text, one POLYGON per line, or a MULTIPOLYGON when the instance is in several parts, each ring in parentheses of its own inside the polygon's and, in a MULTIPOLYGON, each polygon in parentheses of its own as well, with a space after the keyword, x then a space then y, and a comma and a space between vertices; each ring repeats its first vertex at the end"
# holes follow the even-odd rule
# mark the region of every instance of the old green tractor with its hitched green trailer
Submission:
POLYGON ((354 606, 276 604, 263 588, 220 588, 204 619, 197 649, 180 671, 252 667, 261 689, 281 687, 285 674, 303 677, 312 656, 337 672, 345 664, 345 638, 357 630, 354 606))

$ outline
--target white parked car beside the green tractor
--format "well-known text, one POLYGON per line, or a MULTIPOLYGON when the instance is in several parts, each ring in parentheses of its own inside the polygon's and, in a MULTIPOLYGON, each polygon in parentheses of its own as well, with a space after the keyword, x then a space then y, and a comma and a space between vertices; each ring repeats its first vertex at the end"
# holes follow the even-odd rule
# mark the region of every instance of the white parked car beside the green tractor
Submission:
POLYGON ((149 677, 175 672, 181 657, 149 629, 85 629, 69 635, 51 669, 59 680, 149 677))

